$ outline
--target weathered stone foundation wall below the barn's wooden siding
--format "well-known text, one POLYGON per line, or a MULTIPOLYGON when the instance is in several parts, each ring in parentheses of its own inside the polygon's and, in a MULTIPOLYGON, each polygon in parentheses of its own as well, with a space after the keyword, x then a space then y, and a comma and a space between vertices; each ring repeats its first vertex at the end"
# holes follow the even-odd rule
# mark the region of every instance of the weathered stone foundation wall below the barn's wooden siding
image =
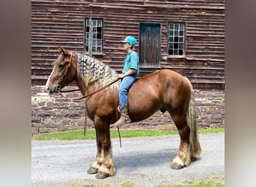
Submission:
MULTIPOLYGON (((76 86, 67 87, 76 89, 76 86)), ((67 98, 82 96, 79 91, 64 93, 67 98)), ((225 93, 222 90, 195 90, 197 122, 199 129, 225 126, 225 93)), ((61 96, 48 96, 44 86, 31 86, 31 134, 83 129, 85 124, 84 100, 70 101, 61 96)), ((94 128, 87 118, 88 129, 94 128)), ((170 114, 157 111, 153 116, 122 129, 176 129, 170 114)))

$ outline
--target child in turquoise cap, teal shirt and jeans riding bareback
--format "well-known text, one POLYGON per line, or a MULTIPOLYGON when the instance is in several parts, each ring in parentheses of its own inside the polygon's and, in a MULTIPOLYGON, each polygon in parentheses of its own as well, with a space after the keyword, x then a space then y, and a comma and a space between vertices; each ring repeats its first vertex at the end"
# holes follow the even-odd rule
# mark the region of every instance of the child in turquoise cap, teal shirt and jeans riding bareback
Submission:
POLYGON ((121 74, 118 74, 118 78, 122 79, 119 88, 119 109, 121 117, 117 122, 112 124, 112 126, 122 126, 125 123, 130 122, 127 93, 132 86, 132 83, 137 79, 139 73, 138 54, 134 51, 135 44, 137 43, 135 37, 128 36, 124 40, 121 40, 121 42, 124 43, 124 49, 127 51, 127 57, 124 61, 124 69, 121 74))

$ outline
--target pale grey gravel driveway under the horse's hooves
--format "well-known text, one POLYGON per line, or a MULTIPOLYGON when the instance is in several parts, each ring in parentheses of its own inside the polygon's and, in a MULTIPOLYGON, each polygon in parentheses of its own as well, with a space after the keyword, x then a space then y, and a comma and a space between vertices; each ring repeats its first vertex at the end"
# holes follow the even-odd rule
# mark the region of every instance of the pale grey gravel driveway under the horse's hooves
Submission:
POLYGON ((198 180, 225 180, 225 133, 199 135, 202 153, 197 161, 181 170, 170 168, 180 138, 112 139, 115 177, 96 180, 87 169, 96 156, 95 141, 32 141, 32 186, 159 186, 198 180))

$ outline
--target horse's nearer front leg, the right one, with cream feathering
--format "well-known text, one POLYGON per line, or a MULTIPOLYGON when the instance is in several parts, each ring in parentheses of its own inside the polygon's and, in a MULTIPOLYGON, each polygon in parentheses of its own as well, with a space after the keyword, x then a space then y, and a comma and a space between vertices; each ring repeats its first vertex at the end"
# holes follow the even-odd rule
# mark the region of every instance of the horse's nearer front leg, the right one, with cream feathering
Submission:
POLYGON ((105 179, 106 177, 115 175, 115 163, 112 155, 112 145, 110 139, 109 124, 97 118, 95 127, 100 136, 100 142, 103 148, 102 160, 100 162, 100 168, 96 175, 97 179, 105 179))

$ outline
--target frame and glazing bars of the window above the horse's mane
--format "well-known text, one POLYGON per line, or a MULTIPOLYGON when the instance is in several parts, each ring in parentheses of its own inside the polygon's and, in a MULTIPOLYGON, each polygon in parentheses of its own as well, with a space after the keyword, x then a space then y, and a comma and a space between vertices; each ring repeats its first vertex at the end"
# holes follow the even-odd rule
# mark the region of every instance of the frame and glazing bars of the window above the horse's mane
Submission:
MULTIPOLYGON (((97 38, 94 39, 94 37, 93 37, 93 40, 101 40, 101 46, 100 46, 101 47, 101 52, 97 52, 97 49, 96 49, 96 52, 91 52, 91 53, 92 53, 92 55, 103 55, 103 19, 102 18, 91 18, 91 19, 92 19, 92 21, 94 21, 94 20, 101 21, 101 39, 97 39, 97 38)), ((89 54, 89 52, 86 51, 86 48, 87 48, 86 43, 87 43, 87 40, 88 40, 88 37, 87 37, 88 31, 87 31, 87 25, 86 25, 87 20, 90 20, 90 17, 85 17, 85 19, 84 19, 84 52, 85 52, 85 54, 89 54)), ((94 33, 94 31, 93 31, 93 33, 94 33)), ((94 34, 97 34, 97 31, 94 34)), ((93 41, 93 43, 94 43, 94 41, 93 41)), ((94 46, 97 47, 97 44, 93 45, 93 47, 94 46)))

